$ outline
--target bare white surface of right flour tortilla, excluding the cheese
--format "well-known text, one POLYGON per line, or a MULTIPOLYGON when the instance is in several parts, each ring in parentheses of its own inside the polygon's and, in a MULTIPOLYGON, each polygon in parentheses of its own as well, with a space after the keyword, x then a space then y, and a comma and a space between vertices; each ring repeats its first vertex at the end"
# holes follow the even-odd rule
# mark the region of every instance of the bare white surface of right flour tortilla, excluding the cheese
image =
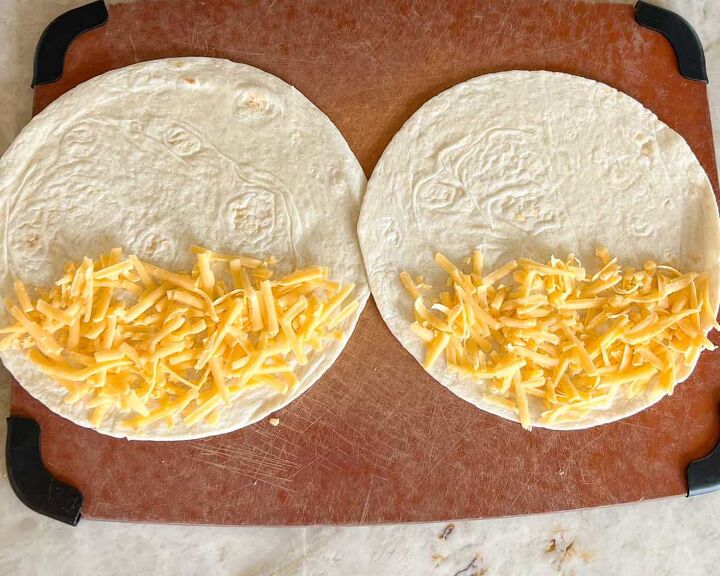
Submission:
MULTIPOLYGON (((378 162, 358 231, 380 313, 418 361, 424 346, 410 331, 412 302, 398 274, 444 286, 438 251, 461 264, 478 248, 486 270, 574 253, 595 272, 595 248, 606 246, 624 266, 653 259, 707 272, 717 311, 720 219, 699 162, 642 104, 568 74, 490 74, 427 102, 378 162)), ((444 358, 430 373, 475 406, 517 420, 483 401, 484 385, 449 373, 444 358)), ((552 427, 611 422, 658 399, 618 397, 609 410, 552 427)), ((542 407, 531 408, 539 425, 542 407)))

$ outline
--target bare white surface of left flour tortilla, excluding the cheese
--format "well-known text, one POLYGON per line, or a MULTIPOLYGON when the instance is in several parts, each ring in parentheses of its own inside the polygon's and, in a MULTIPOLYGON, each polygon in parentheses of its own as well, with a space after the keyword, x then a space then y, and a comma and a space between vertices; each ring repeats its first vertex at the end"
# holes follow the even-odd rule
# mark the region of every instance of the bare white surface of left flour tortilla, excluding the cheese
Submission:
MULTIPOLYGON (((212 58, 157 60, 108 72, 58 98, 0 160, 0 290, 20 278, 47 286, 68 260, 114 246, 171 270, 189 248, 265 258, 276 274, 314 264, 354 282, 361 306, 345 338, 299 367, 281 395, 258 387, 236 397, 217 426, 140 432, 106 418, 118 437, 180 440, 260 420, 307 390, 335 361, 369 296, 356 225, 365 176, 332 122, 292 86, 256 68, 212 58)), ((0 325, 9 322, 5 312, 0 325)), ((61 416, 90 426, 82 402, 18 350, 2 361, 61 416)))

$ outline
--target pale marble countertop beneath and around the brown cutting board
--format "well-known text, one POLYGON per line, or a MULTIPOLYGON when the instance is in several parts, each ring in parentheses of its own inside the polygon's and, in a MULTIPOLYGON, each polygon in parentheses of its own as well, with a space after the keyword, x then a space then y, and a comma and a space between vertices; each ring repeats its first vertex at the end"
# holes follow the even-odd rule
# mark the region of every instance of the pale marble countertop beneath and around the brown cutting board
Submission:
MULTIPOLYGON (((0 152, 30 119, 37 38, 55 16, 86 1, 0 0, 0 152)), ((720 1, 653 2, 685 16, 703 41, 720 142, 720 1)), ((3 373, 0 412, 7 414, 8 403, 3 373)), ((719 516, 717 493, 452 524, 218 528, 83 521, 71 528, 25 508, 3 467, 0 574, 708 575, 719 570, 719 516)))

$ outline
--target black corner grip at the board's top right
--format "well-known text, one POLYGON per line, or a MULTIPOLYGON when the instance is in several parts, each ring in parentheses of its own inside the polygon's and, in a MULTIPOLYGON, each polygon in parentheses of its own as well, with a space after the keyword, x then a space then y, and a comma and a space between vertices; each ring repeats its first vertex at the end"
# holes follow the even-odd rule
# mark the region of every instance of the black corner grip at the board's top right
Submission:
POLYGON ((640 0, 635 4, 635 20, 640 26, 660 32, 670 41, 683 77, 707 83, 705 53, 700 38, 685 18, 640 0))

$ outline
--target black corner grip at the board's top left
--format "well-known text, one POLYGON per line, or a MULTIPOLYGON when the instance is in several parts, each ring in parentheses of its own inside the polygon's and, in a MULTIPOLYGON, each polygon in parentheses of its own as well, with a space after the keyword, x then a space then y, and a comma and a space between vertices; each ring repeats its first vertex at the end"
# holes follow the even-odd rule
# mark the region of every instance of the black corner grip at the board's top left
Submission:
POLYGON ((50 22, 35 48, 32 87, 60 80, 65 53, 73 40, 83 32, 102 26, 107 19, 105 2, 97 0, 68 10, 50 22))

